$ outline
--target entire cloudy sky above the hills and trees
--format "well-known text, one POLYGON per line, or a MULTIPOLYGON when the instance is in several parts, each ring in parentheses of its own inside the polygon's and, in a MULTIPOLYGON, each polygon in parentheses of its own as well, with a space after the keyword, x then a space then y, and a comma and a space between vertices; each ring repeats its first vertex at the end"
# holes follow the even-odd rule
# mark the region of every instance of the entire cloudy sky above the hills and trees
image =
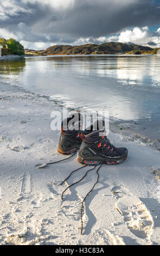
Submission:
POLYGON ((0 38, 35 50, 108 41, 160 47, 160 0, 0 0, 0 38))

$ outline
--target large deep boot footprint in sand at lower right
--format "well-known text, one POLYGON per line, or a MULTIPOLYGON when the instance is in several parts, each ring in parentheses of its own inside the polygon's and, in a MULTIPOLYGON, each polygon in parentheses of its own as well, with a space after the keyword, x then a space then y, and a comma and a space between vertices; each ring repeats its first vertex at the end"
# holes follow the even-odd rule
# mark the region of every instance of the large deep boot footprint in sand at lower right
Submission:
POLYGON ((121 185, 113 187, 112 193, 118 199, 116 209, 123 216, 127 228, 139 238, 150 240, 153 219, 144 203, 121 185))

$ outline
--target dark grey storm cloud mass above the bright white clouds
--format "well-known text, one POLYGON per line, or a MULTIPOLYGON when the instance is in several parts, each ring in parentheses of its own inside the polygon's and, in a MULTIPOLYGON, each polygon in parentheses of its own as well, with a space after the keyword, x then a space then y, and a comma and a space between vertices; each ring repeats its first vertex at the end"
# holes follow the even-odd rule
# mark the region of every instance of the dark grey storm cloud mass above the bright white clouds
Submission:
POLYGON ((20 32, 24 41, 69 44, 79 38, 114 34, 130 26, 157 25, 159 5, 153 3, 149 0, 0 0, 0 28, 20 32))

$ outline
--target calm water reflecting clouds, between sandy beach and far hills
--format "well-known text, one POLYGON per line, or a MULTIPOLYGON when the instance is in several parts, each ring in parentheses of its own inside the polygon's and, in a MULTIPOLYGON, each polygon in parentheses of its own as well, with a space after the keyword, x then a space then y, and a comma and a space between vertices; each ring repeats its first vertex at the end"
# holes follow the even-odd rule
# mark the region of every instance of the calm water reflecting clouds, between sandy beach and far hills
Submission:
POLYGON ((110 118, 138 122, 160 138, 160 58, 49 56, 0 62, 1 81, 65 106, 107 109, 110 118))

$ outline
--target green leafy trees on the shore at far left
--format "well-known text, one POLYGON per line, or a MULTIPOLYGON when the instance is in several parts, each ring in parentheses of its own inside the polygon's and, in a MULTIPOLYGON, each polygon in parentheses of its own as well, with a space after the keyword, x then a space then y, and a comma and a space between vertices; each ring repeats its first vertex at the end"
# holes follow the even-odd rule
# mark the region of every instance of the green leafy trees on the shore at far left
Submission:
POLYGON ((24 55, 24 47, 20 42, 13 38, 6 40, 5 38, 0 38, 0 46, 2 47, 2 56, 9 54, 24 55))

